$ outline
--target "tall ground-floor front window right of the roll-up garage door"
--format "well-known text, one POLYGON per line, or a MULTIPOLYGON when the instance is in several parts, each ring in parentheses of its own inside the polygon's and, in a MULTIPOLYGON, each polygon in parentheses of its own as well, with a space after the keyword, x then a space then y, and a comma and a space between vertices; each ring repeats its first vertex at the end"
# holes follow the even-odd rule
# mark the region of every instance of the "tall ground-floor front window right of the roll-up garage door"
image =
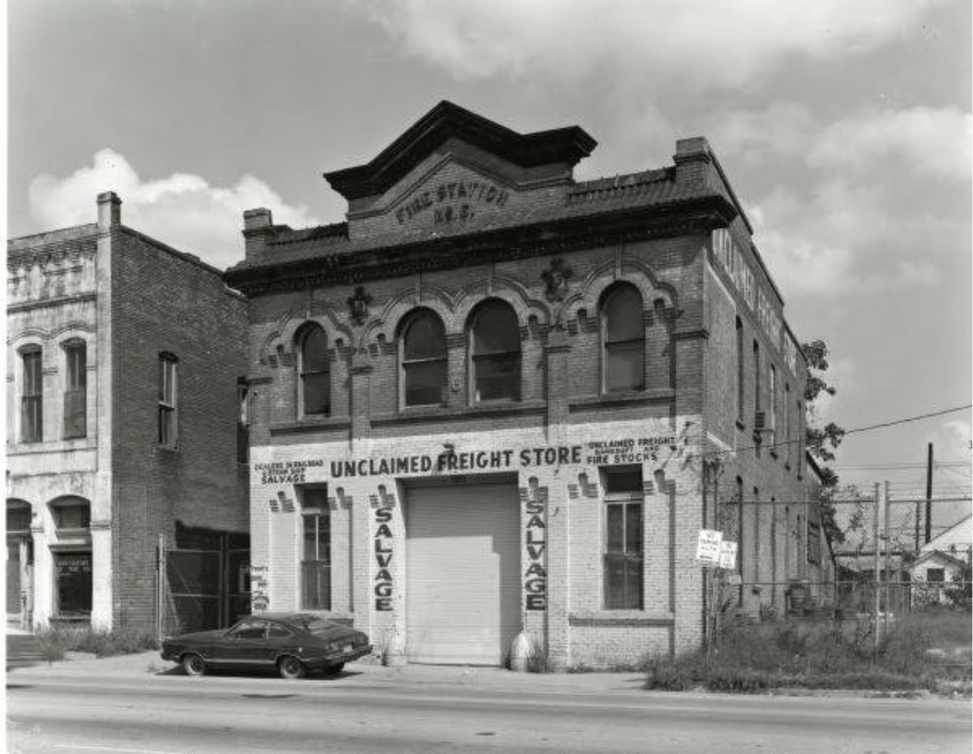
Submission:
POLYGON ((603 473, 605 489, 604 606, 641 610, 642 470, 614 467, 603 473))

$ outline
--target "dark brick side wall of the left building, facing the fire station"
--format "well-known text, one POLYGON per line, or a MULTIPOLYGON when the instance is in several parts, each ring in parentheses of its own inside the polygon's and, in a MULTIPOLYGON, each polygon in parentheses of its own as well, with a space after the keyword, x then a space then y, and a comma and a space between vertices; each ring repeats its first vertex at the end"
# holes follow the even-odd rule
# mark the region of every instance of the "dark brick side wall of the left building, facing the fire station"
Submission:
POLYGON ((237 463, 246 308, 214 269, 126 228, 113 238, 116 622, 155 620, 156 546, 180 521, 248 529, 237 463), (160 359, 176 360, 176 440, 160 443, 160 359))

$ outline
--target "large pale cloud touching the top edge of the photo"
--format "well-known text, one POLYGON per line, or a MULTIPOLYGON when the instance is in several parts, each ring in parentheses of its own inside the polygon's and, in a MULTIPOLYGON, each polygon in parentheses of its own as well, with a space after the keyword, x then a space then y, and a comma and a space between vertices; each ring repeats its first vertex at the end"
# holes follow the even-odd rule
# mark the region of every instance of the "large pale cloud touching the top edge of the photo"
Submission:
POLYGON ((607 73, 706 89, 748 84, 790 55, 828 59, 875 49, 915 28, 932 4, 370 0, 352 7, 456 78, 607 73))

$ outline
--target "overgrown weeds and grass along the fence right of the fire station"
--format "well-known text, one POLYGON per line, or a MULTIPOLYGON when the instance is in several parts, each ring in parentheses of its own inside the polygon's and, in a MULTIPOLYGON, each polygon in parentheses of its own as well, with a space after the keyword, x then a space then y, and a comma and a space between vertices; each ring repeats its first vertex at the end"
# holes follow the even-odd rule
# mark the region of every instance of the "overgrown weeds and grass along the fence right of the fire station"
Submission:
POLYGON ((925 689, 969 696, 970 643, 966 611, 913 613, 889 629, 877 651, 867 620, 737 625, 727 628, 719 647, 708 653, 650 661, 646 688, 738 693, 787 687, 925 689), (933 656, 930 650, 945 654, 933 656))

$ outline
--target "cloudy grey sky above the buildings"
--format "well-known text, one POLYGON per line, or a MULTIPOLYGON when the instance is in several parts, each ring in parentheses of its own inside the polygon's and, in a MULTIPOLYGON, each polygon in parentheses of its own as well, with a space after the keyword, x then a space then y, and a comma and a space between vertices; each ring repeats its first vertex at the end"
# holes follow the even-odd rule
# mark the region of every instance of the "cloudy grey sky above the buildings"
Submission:
MULTIPOLYGON (((339 222, 324 171, 441 99, 598 141, 581 180, 705 136, 784 315, 830 350, 816 420, 971 402, 968 0, 10 0, 10 236, 123 222, 219 268, 242 212, 339 222)), ((968 410, 853 432, 842 481, 968 492, 968 410)))

